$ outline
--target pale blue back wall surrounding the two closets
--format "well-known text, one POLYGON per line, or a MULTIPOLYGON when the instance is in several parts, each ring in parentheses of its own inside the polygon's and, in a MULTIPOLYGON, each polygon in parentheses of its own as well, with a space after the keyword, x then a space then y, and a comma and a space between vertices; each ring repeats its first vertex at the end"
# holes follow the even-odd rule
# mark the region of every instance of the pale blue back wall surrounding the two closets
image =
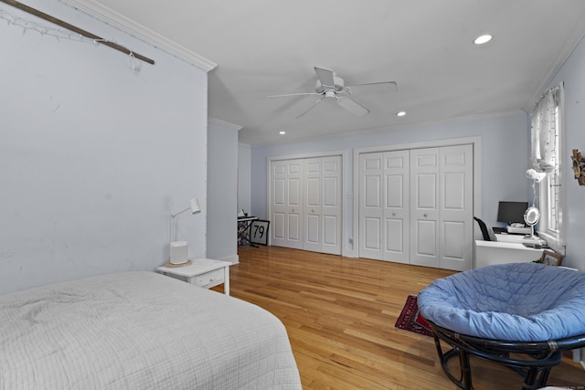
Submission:
MULTIPOLYGON (((365 132, 360 135, 340 136, 314 142, 287 143, 252 147, 251 156, 251 212, 266 218, 266 158, 277 155, 347 151, 348 166, 344 180, 349 192, 345 194, 347 209, 344 220, 348 237, 352 236, 353 150, 368 146, 424 142, 451 138, 480 137, 483 150, 481 173, 481 205, 474 206, 474 215, 481 216, 489 226, 496 226, 497 206, 500 200, 528 198, 526 171, 528 166, 528 120, 525 112, 425 124, 391 131, 365 132)), ((347 256, 356 251, 345 243, 347 256)))

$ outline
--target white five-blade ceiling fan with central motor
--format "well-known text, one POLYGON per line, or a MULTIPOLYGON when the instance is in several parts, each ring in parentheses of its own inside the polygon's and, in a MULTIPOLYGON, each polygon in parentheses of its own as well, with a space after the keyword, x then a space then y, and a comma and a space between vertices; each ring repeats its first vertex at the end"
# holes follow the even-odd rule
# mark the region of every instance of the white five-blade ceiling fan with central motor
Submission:
POLYGON ((325 99, 335 99, 337 104, 351 112, 356 116, 364 116, 369 113, 366 107, 356 103, 356 101, 349 99, 344 95, 351 95, 352 89, 355 90, 369 90, 372 87, 382 88, 384 90, 398 90, 398 85, 394 81, 379 81, 370 82, 365 84, 355 84, 352 86, 345 85, 344 79, 340 78, 331 69, 314 67, 314 71, 317 74, 317 80, 315 82, 314 92, 301 92, 301 93, 286 93, 283 95, 271 95, 269 98, 282 98, 287 96, 305 96, 305 95, 319 95, 321 98, 314 102, 308 110, 303 111, 294 119, 303 117, 307 112, 313 110, 317 104, 325 99))

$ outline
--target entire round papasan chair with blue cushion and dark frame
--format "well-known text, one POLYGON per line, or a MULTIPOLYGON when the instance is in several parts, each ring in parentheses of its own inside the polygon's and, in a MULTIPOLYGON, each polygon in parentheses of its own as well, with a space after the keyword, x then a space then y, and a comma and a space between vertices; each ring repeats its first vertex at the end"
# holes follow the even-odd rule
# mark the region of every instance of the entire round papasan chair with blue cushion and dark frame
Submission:
POLYGON ((562 351, 585 346, 585 273, 537 263, 510 263, 434 280, 418 297, 441 366, 453 383, 473 389, 470 357, 524 375, 523 389, 547 384, 562 351), (452 349, 443 353, 441 341, 452 349), (456 377, 447 362, 459 357, 456 377))

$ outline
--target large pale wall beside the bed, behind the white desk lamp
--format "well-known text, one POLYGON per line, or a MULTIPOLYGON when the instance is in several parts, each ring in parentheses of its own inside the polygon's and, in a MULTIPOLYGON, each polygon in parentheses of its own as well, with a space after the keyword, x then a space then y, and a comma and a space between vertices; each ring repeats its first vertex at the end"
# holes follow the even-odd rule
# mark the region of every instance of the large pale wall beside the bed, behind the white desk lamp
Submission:
MULTIPOLYGON (((0 292, 206 253, 207 74, 57 0, 27 5, 153 58, 0 20, 0 292)), ((9 5, 13 16, 37 20, 9 5)), ((54 25, 37 20, 46 26, 54 25)))

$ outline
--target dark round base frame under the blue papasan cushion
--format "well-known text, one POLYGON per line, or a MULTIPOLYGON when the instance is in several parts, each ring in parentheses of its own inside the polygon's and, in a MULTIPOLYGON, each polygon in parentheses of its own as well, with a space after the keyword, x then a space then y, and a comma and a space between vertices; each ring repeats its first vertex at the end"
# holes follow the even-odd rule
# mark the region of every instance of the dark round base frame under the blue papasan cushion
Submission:
POLYGON ((443 372, 464 390, 473 390, 471 357, 501 364, 524 376, 523 390, 534 390, 547 385, 550 370, 562 360, 562 352, 585 346, 585 334, 547 342, 507 342, 464 335, 442 328, 432 321, 432 335, 439 354, 443 372), (441 341, 452 349, 443 353, 441 341), (514 357, 510 357, 514 353, 514 357), (459 358, 460 372, 457 378, 447 363, 459 358))

